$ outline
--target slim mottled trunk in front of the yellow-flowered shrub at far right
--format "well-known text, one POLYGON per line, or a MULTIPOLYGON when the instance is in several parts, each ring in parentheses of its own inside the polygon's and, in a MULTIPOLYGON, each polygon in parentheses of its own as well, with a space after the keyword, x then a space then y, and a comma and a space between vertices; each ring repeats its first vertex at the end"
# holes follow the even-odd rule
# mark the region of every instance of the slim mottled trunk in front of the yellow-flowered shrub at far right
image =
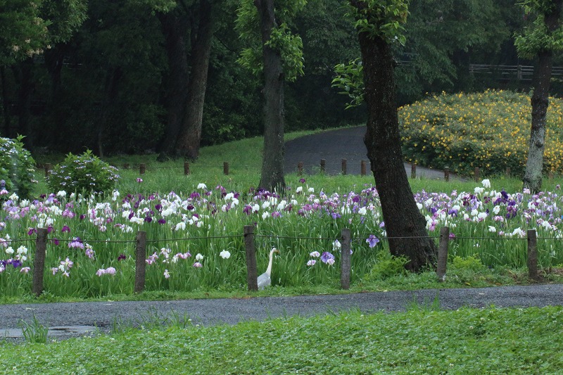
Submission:
MULTIPOLYGON (((563 0, 554 1, 550 13, 545 14, 544 22, 548 32, 555 31, 559 25, 563 0)), ((538 193, 541 189, 543 170, 543 151, 545 150, 545 123, 548 115, 553 51, 551 49, 538 53, 538 67, 534 75, 533 94, 531 98, 532 122, 530 129, 530 146, 524 188, 538 193)))

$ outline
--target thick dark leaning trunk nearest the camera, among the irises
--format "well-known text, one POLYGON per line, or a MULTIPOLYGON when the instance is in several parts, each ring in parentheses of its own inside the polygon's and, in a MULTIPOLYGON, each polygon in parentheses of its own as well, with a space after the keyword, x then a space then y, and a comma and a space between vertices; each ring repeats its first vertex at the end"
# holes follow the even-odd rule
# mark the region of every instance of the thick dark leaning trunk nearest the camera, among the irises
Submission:
POLYGON ((412 271, 434 262, 434 240, 428 237, 426 220, 417 208, 403 166, 396 106, 393 56, 384 39, 359 33, 364 64, 367 156, 374 177, 391 254, 403 255, 412 271))

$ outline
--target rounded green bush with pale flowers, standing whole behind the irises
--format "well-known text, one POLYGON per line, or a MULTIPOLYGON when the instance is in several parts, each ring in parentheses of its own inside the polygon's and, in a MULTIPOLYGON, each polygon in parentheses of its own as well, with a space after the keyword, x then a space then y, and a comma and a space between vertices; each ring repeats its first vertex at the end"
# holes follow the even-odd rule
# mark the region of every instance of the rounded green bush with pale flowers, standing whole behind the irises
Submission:
POLYGON ((63 163, 51 170, 47 185, 53 192, 104 193, 115 188, 119 179, 117 172, 116 167, 100 160, 90 150, 82 155, 69 153, 63 163))

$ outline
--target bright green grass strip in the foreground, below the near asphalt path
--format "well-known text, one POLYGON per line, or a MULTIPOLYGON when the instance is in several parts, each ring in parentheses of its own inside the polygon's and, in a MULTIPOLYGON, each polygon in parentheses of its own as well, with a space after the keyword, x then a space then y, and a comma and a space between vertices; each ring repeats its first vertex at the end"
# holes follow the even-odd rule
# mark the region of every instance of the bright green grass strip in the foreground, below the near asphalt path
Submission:
POLYGON ((0 343, 5 374, 557 374, 563 307, 346 312, 0 343))

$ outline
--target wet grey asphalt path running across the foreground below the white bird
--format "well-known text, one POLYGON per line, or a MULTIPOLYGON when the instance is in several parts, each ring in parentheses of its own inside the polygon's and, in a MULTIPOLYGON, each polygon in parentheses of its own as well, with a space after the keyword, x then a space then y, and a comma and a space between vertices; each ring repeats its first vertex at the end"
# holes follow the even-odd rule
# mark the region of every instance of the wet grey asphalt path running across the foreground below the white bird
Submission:
POLYGON ((460 307, 543 307, 563 305, 562 284, 499 286, 492 288, 427 289, 297 297, 223 298, 168 301, 37 303, 0 305, 0 333, 21 339, 18 324, 34 319, 49 327, 49 337, 65 339, 106 333, 116 322, 139 326, 153 317, 180 317, 192 324, 236 324, 241 321, 360 310, 400 312, 413 304, 438 303, 443 310, 460 307))

